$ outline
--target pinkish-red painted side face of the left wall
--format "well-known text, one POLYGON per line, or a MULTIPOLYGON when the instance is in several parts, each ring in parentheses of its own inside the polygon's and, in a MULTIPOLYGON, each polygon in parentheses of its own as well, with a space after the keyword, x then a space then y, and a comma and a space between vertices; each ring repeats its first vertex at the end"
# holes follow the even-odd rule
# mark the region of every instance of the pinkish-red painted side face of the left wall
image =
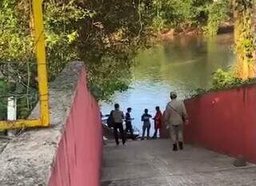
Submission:
POLYGON ((99 186, 102 126, 98 104, 86 87, 82 70, 66 129, 58 144, 49 186, 99 186))

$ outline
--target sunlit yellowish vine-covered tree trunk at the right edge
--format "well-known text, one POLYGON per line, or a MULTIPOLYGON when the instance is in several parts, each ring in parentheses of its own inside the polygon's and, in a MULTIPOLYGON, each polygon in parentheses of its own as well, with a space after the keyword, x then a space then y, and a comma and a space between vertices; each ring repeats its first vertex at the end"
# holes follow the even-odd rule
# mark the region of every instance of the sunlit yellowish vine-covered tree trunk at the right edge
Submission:
POLYGON ((255 77, 255 22, 254 1, 234 3, 234 51, 237 54, 236 76, 246 80, 255 77))

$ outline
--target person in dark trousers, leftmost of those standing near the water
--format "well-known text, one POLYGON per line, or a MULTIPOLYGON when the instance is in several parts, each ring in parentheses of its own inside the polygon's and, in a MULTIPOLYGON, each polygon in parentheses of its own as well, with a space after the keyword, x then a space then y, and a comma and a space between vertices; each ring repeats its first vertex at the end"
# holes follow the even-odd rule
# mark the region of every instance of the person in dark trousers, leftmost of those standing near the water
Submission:
POLYGON ((122 126, 122 123, 125 117, 122 111, 120 110, 120 106, 118 104, 114 105, 114 110, 111 111, 110 116, 112 117, 114 122, 114 138, 115 138, 116 144, 117 145, 119 144, 118 129, 122 137, 122 144, 126 144, 126 138, 125 138, 125 134, 122 126))

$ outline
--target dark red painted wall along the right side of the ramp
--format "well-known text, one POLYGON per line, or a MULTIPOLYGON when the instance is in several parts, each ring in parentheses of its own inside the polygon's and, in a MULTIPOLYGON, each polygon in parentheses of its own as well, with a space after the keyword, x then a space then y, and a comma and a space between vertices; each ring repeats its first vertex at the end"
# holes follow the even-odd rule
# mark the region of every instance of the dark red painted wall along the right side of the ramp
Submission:
POLYGON ((256 86, 186 100, 185 140, 256 163, 256 86))

